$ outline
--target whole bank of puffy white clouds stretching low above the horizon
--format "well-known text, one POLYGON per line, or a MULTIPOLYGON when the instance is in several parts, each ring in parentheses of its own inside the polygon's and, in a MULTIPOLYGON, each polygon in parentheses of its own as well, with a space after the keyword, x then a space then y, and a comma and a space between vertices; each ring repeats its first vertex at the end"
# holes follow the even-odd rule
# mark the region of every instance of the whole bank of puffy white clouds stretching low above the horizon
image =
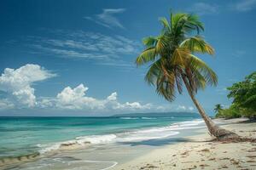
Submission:
MULTIPOLYGON (((143 104, 138 101, 120 102, 118 93, 113 92, 106 98, 96 99, 87 95, 88 87, 83 83, 77 87, 63 88, 54 97, 34 94, 35 82, 44 81, 56 75, 40 65, 27 64, 18 69, 6 68, 0 77, 0 110, 40 109, 44 111, 83 111, 87 113, 113 113, 129 111, 172 111, 171 105, 143 104)), ((179 105, 179 111, 193 111, 193 107, 179 105)))

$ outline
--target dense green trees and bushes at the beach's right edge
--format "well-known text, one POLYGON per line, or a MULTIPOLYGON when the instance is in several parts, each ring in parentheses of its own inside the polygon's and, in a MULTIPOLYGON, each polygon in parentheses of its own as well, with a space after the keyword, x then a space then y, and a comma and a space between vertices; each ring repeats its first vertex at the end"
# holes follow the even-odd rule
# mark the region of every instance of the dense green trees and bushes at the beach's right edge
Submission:
POLYGON ((230 91, 227 97, 233 99, 232 104, 229 108, 221 110, 218 110, 216 105, 216 117, 229 119, 242 116, 256 119, 256 71, 227 89, 230 91))

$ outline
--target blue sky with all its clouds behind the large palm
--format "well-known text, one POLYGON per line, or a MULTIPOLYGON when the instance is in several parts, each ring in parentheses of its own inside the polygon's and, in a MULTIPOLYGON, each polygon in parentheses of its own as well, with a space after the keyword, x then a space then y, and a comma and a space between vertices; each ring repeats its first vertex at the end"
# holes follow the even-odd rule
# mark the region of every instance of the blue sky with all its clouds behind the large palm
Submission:
POLYGON ((168 103, 143 80, 134 60, 159 18, 199 14, 216 50, 201 56, 218 86, 197 98, 212 115, 230 105, 225 89, 255 71, 256 0, 1 1, 0 116, 94 116, 146 111, 196 111, 184 93, 168 103))

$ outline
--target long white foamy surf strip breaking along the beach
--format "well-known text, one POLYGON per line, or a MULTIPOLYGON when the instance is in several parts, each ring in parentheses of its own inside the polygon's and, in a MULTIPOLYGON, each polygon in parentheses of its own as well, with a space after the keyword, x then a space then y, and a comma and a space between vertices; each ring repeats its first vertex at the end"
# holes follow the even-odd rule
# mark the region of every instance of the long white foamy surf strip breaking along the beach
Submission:
POLYGON ((127 143, 152 139, 166 139, 177 135, 179 133, 178 130, 204 127, 199 126, 202 124, 202 122, 203 121, 199 119, 194 121, 172 123, 172 125, 166 127, 152 127, 139 130, 137 129, 124 133, 80 136, 73 140, 67 140, 55 144, 38 144, 38 147, 41 148, 39 153, 44 154, 53 150, 76 149, 86 144, 127 143))

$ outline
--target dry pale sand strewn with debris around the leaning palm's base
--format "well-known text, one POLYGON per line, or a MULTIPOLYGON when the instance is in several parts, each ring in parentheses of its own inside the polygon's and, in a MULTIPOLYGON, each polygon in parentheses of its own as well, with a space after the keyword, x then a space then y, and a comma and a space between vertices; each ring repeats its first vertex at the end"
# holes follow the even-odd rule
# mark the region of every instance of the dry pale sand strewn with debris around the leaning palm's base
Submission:
MULTIPOLYGON (((256 138, 256 123, 239 122, 222 127, 241 136, 256 138)), ((113 169, 256 169, 256 143, 207 142, 212 138, 207 129, 204 134, 187 137, 188 141, 169 144, 164 148, 152 150, 132 161, 119 164, 113 169)))

